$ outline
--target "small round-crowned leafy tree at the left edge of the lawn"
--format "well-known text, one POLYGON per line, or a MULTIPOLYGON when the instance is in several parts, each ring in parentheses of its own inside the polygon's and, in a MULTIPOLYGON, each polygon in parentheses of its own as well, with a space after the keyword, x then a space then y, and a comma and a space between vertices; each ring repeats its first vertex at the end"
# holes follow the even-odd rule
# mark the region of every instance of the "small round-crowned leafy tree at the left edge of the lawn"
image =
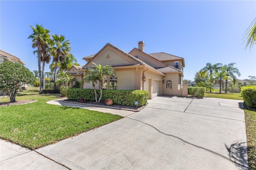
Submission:
POLYGON ((10 97, 11 102, 15 102, 16 94, 20 86, 34 83, 34 74, 20 63, 6 61, 0 64, 0 89, 10 97))

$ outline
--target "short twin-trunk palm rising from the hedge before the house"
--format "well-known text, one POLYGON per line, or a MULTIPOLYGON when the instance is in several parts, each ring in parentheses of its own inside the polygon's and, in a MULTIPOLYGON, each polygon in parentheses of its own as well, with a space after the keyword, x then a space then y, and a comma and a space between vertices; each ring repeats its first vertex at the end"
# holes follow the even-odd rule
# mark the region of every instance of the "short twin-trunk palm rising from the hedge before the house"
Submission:
POLYGON ((100 82, 100 98, 98 102, 100 102, 102 97, 102 82, 105 75, 116 75, 114 68, 110 65, 96 65, 95 63, 94 67, 90 69, 90 74, 92 74, 94 77, 98 78, 98 81, 100 82))

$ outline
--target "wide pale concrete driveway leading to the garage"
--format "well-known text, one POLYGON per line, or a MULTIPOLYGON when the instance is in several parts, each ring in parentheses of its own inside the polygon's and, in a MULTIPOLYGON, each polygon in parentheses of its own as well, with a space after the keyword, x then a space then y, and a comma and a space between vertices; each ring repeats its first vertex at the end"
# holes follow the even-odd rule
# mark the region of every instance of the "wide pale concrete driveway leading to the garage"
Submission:
POLYGON ((247 169, 243 101, 148 102, 140 112, 36 152, 70 169, 247 169))

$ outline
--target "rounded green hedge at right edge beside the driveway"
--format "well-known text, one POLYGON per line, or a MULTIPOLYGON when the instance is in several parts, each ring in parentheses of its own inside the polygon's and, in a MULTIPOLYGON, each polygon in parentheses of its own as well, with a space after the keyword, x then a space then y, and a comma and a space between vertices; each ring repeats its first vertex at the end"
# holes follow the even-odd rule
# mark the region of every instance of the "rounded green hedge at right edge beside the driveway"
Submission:
POLYGON ((256 85, 242 87, 241 94, 246 105, 251 108, 256 108, 256 85))

